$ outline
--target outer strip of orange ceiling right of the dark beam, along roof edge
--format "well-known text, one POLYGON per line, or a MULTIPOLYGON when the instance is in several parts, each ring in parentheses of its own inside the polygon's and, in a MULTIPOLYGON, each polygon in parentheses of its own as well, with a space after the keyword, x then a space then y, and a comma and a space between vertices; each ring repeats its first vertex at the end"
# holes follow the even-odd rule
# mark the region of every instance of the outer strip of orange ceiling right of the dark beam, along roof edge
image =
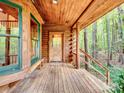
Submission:
POLYGON ((99 6, 98 10, 95 10, 94 13, 92 13, 92 16, 87 18, 85 22, 82 20, 80 21, 80 27, 81 29, 87 27, 88 25, 92 24, 108 12, 112 11, 112 9, 116 8, 117 6, 121 5, 124 3, 124 0, 107 0, 104 2, 104 4, 99 6), (96 16, 97 15, 97 16, 96 16))

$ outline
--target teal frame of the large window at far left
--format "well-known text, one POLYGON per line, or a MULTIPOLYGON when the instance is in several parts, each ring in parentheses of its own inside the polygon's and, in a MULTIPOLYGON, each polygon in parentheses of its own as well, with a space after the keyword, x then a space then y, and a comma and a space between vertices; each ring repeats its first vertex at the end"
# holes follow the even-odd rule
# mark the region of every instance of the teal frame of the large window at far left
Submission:
POLYGON ((22 68, 22 7, 9 0, 0 0, 0 2, 5 3, 13 8, 17 8, 18 9, 18 20, 19 20, 19 36, 14 36, 14 35, 12 36, 12 37, 19 38, 18 64, 0 67, 0 75, 4 75, 4 74, 15 73, 16 71, 20 71, 22 68))

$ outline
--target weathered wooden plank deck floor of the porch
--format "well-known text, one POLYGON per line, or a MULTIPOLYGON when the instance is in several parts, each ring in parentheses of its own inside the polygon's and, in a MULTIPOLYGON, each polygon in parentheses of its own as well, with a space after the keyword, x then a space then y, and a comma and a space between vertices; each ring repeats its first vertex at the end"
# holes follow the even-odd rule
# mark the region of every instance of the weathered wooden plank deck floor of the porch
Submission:
POLYGON ((86 70, 49 63, 24 79, 11 93, 104 93, 107 85, 86 70))

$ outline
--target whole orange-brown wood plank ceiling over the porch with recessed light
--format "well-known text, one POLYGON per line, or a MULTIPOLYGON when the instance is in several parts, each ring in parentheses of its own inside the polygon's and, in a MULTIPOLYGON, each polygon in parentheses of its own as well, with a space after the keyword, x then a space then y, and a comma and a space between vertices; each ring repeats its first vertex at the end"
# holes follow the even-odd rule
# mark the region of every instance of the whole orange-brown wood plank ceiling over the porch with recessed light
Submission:
POLYGON ((52 1, 33 0, 45 24, 71 27, 79 22, 82 28, 124 3, 124 0, 58 0, 58 4, 52 1))

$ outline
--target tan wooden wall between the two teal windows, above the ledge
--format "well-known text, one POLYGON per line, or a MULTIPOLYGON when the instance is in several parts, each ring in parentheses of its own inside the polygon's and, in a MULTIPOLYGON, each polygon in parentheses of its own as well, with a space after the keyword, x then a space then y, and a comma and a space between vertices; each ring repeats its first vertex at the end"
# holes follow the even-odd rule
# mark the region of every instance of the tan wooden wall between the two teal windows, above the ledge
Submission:
MULTIPOLYGON (((31 63, 31 29, 30 18, 32 14, 42 25, 43 20, 30 0, 11 0, 13 3, 22 6, 22 68, 27 69, 31 63)), ((40 26, 40 34, 42 36, 42 26, 40 26)), ((42 37, 41 37, 42 39, 42 37)), ((41 42, 42 46, 42 42, 41 42)), ((42 49, 42 47, 41 47, 42 49)))

